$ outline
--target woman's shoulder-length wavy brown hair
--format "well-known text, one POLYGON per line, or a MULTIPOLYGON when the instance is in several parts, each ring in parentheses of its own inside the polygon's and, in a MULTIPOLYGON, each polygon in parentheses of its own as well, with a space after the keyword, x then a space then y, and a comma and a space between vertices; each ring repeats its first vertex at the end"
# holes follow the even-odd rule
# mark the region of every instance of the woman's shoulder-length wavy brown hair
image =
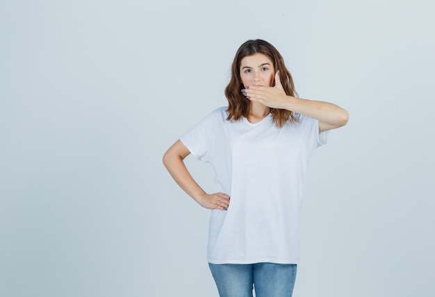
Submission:
MULTIPOLYGON (((265 40, 247 40, 243 45, 240 45, 236 52, 236 57, 231 66, 231 80, 227 88, 225 88, 225 97, 227 97, 228 100, 227 112, 229 113, 227 120, 240 120, 242 116, 246 118, 249 113, 251 102, 241 93, 241 90, 245 88, 245 86, 243 86, 242 79, 240 79, 240 62, 243 58, 254 54, 263 54, 270 58, 275 72, 279 70, 279 79, 286 94, 297 97, 293 79, 286 65, 284 65, 284 59, 281 54, 279 54, 279 51, 265 40)), ((297 122, 292 111, 286 109, 270 109, 270 112, 272 113, 272 120, 277 127, 283 127, 287 121, 291 123, 297 122)))

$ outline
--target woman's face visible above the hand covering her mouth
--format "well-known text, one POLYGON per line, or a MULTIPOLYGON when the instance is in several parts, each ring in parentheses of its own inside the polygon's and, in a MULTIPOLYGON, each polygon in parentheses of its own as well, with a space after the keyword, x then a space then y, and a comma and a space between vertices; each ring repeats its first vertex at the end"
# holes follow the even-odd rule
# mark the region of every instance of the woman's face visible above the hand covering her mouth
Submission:
POLYGON ((275 70, 263 54, 246 56, 240 61, 240 79, 244 86, 272 86, 275 70))

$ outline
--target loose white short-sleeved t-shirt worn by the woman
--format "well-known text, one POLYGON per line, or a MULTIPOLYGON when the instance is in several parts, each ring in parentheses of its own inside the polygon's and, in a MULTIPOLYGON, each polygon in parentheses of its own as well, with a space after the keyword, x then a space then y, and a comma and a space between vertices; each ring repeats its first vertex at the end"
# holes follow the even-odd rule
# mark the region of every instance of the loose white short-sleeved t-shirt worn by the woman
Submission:
POLYGON ((297 264, 299 212, 306 167, 313 150, 327 141, 318 120, 278 128, 272 115, 252 124, 228 121, 216 109, 181 136, 197 159, 210 163, 218 191, 231 197, 227 211, 211 211, 208 262, 297 264))

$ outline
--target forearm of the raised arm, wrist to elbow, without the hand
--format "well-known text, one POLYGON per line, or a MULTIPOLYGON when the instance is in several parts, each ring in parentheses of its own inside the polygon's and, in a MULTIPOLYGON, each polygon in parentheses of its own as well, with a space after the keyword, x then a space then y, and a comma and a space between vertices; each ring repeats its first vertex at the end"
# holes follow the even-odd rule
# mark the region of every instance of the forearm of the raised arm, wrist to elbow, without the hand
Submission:
POLYGON ((347 111, 336 104, 291 96, 287 96, 284 109, 308 115, 310 118, 337 128, 346 125, 349 117, 347 111))

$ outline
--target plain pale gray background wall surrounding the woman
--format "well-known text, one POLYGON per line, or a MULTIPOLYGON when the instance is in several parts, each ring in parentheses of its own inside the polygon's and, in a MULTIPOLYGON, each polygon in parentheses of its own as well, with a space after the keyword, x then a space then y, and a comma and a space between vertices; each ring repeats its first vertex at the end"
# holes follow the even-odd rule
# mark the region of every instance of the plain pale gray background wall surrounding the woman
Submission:
MULTIPOLYGON (((0 296, 217 296, 163 153, 236 49, 350 113, 315 151, 296 297, 434 296, 432 1, 0 1, 0 296)), ((214 191, 211 168, 192 175, 214 191)))

